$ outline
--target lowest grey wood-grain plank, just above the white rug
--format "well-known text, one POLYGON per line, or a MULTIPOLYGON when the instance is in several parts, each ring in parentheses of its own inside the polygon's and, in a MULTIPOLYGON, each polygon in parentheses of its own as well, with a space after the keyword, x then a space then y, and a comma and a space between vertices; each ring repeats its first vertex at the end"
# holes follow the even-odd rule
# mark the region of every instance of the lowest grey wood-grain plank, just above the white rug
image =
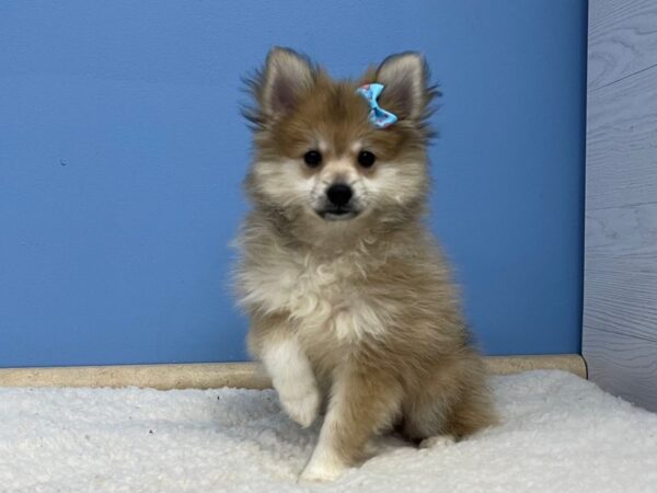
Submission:
POLYGON ((615 332, 586 330, 588 375, 602 389, 657 411, 657 342, 615 332))

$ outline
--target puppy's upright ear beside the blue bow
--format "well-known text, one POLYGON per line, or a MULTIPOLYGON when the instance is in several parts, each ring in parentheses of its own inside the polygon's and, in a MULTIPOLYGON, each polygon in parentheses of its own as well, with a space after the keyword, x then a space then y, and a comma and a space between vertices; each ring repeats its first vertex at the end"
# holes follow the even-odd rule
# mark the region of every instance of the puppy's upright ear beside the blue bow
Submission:
POLYGON ((423 119, 433 95, 427 79, 427 65, 418 53, 388 57, 376 74, 376 81, 385 87, 380 98, 381 107, 392 111, 400 119, 423 119))

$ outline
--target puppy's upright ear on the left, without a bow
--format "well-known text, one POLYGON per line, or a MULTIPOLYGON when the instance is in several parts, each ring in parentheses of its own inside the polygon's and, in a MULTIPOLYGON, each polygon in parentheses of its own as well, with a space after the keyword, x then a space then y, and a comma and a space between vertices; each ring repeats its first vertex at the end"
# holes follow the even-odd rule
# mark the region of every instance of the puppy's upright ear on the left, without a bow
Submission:
POLYGON ((295 107, 314 81, 308 58, 288 48, 275 47, 267 55, 257 99, 261 112, 277 118, 295 107))

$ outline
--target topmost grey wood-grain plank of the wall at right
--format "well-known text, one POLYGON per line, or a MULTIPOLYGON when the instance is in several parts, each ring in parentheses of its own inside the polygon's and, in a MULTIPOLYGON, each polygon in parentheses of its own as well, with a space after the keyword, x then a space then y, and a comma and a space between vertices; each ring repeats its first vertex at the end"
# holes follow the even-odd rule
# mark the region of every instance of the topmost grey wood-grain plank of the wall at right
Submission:
POLYGON ((589 2, 588 90, 657 66, 657 1, 589 2))

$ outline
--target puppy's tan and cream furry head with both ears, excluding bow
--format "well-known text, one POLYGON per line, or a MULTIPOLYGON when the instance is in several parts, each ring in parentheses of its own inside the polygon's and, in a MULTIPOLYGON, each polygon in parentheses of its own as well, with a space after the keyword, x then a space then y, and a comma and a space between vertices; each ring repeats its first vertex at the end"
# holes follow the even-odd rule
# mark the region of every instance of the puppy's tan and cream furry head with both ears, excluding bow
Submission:
POLYGON ((334 81, 297 53, 274 48, 250 81, 245 111, 255 159, 246 180, 252 199, 309 225, 395 222, 417 214, 428 187, 426 119, 436 94, 422 56, 403 53, 359 81, 334 81), (380 128, 357 92, 383 84, 381 108, 397 121, 380 128))

